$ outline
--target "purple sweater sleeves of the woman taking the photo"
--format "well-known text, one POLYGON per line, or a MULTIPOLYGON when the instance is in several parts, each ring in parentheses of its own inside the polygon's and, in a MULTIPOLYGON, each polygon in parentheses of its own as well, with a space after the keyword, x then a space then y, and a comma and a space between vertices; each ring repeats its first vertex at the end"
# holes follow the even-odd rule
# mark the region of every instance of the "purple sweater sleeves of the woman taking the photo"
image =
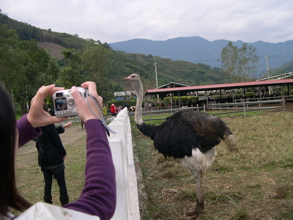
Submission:
MULTIPOLYGON (((26 115, 17 121, 17 127, 20 133, 19 146, 41 134, 41 129, 34 129, 26 115)), ((63 207, 109 220, 116 207, 116 183, 108 139, 100 120, 88 120, 85 127, 87 152, 84 189, 79 199, 63 207)))

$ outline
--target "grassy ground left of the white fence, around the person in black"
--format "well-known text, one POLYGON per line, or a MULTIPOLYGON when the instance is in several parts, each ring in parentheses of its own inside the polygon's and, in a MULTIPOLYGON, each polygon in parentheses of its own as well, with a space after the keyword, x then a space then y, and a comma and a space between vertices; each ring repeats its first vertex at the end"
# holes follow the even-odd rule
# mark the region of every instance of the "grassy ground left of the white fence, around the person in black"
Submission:
MULTIPOLYGON (((68 131, 61 134, 63 145, 67 155, 65 159, 65 180, 69 201, 75 201, 80 197, 84 187, 84 166, 86 161, 86 134, 81 131, 78 124, 74 124, 68 131), (64 135, 68 135, 64 136, 64 135), (75 137, 73 137, 73 136, 75 137), (79 138, 79 136, 82 136, 79 138), (76 138, 76 139, 75 139, 76 138)), ((23 154, 16 158, 16 181, 21 194, 28 201, 36 203, 43 201, 44 183, 43 175, 38 166, 38 153, 35 142, 31 141, 22 147, 23 154), (30 153, 28 153, 30 152, 30 153)), ((59 187, 57 180, 52 184, 53 204, 61 206, 59 201, 59 187)), ((14 215, 20 212, 13 210, 14 215)))

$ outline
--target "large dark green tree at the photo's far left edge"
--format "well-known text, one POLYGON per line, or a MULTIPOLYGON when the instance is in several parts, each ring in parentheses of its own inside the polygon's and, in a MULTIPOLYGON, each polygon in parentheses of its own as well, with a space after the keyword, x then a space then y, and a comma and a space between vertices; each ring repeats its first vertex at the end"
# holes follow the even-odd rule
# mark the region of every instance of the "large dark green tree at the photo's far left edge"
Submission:
POLYGON ((0 81, 20 105, 21 114, 40 86, 46 84, 53 69, 50 57, 36 40, 19 41, 14 30, 0 27, 0 81))

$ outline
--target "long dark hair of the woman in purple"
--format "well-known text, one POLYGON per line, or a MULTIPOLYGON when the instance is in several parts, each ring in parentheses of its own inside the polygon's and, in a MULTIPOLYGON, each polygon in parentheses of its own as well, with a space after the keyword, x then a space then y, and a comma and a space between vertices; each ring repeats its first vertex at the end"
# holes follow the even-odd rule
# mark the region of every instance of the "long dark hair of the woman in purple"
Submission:
POLYGON ((0 83, 0 215, 6 216, 9 208, 23 211, 32 204, 25 200, 15 183, 16 118, 11 95, 0 83))

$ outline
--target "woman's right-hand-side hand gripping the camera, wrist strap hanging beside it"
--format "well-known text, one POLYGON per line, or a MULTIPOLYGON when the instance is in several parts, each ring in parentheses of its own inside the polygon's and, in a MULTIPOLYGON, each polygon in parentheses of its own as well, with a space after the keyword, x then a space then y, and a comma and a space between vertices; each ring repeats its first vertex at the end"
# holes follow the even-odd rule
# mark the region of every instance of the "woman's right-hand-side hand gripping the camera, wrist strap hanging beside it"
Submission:
MULTIPOLYGON (((100 106, 103 106, 103 98, 98 95, 97 87, 94 82, 85 82, 81 86, 82 88, 88 88, 89 93, 98 100, 100 106)), ((71 88, 71 94, 76 103, 77 112, 84 123, 89 119, 97 119, 97 117, 88 109, 86 99, 81 96, 79 90, 76 87, 71 88)), ((94 100, 90 96, 88 96, 88 102, 91 110, 93 110, 100 118, 103 118, 101 111, 98 109, 94 100)))

